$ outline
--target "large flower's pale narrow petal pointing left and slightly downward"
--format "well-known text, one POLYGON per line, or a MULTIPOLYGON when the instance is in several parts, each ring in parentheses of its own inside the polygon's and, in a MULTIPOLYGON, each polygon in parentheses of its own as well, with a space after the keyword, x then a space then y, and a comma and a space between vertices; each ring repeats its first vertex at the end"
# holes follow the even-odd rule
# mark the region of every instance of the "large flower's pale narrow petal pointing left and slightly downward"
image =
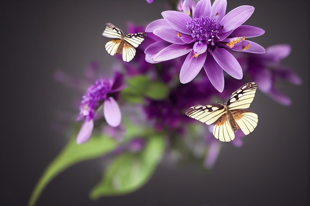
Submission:
POLYGON ((179 56, 183 56, 188 52, 192 51, 189 45, 171 44, 166 48, 160 50, 154 57, 155 62, 167 61, 170 59, 175 59, 179 56))

